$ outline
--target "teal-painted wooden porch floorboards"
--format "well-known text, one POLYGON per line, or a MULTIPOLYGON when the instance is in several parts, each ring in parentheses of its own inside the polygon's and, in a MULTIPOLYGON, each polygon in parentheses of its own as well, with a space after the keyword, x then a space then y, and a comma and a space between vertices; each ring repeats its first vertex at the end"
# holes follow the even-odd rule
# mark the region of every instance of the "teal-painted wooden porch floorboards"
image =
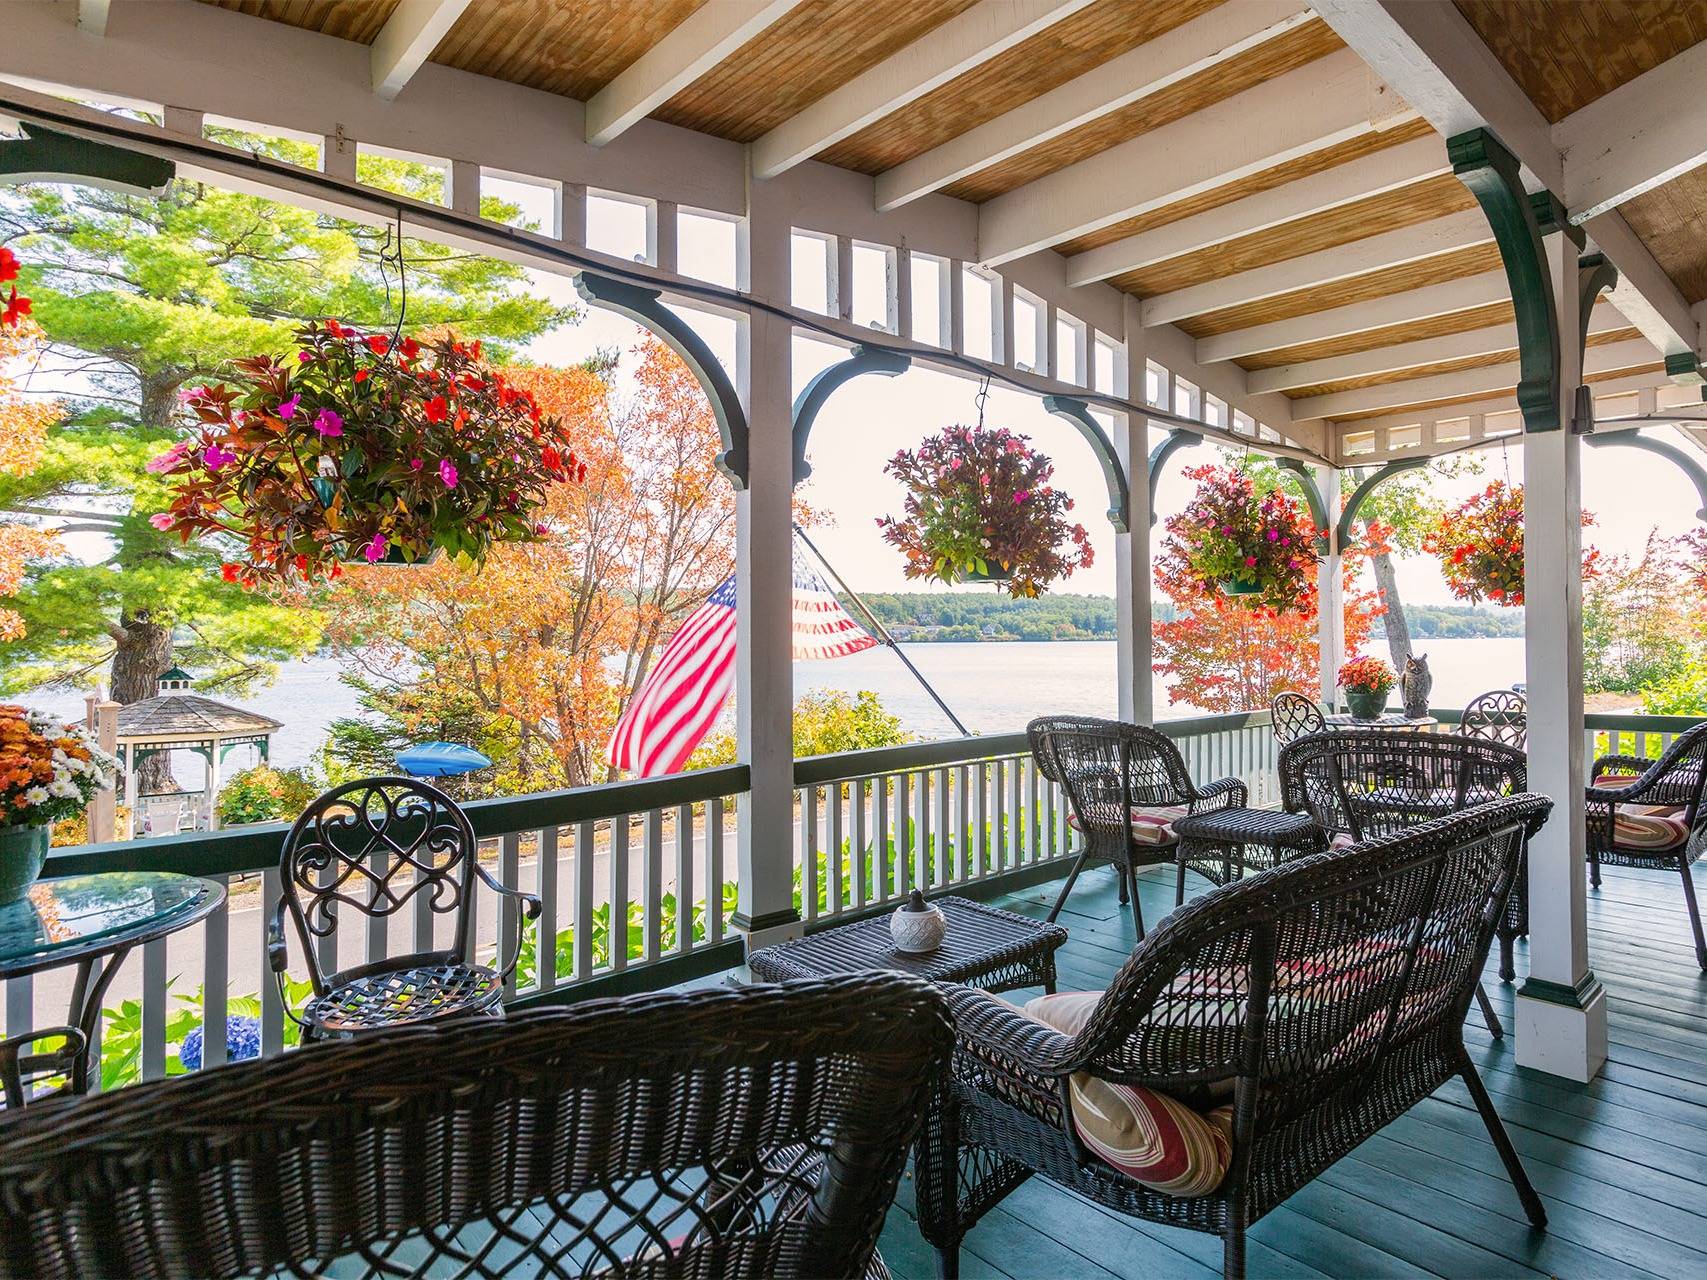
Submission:
MULTIPOLYGON (((1171 869, 1139 877, 1147 925, 1173 908, 1171 869)), ((1202 891, 1202 881, 1191 891, 1202 891)), ((999 899, 1041 916, 1057 882, 999 899)), ((1132 951, 1113 874, 1087 872, 1063 925, 1060 988, 1098 990, 1132 951)), ((1608 869, 1589 891, 1591 961, 1608 993, 1611 1056, 1589 1085, 1523 1070, 1471 1007, 1468 1043, 1547 1201, 1529 1229, 1470 1096, 1454 1082, 1340 1161, 1250 1232, 1253 1277, 1707 1277, 1707 975, 1695 966, 1675 872, 1608 869)), ((1518 944, 1518 971, 1528 964, 1518 944)), ((1512 986, 1489 995, 1511 1024, 1512 986)), ((1022 1002, 1031 992, 1007 998, 1022 1002)), ((896 1277, 935 1277, 912 1176, 883 1232, 896 1277)), ((961 1273, 1014 1280, 1221 1275, 1212 1236, 1121 1217, 1043 1179, 966 1237, 961 1273)))

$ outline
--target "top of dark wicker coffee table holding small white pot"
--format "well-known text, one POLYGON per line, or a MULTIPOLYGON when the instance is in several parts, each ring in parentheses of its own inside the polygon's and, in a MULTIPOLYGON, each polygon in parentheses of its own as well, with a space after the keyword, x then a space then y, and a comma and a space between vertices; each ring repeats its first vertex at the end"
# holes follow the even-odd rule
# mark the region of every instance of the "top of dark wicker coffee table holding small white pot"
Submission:
POLYGON ((935 906, 947 930, 942 945, 930 952, 896 951, 889 916, 879 915, 754 951, 748 968, 761 981, 894 969, 988 992, 1055 990, 1055 952, 1067 940, 1065 928, 964 898, 937 898, 935 906))

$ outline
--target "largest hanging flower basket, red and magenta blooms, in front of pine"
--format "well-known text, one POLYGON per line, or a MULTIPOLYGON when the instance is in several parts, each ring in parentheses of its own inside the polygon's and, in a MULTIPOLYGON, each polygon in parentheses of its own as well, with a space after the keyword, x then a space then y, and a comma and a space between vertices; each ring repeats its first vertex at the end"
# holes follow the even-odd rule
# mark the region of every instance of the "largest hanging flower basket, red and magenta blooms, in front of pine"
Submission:
POLYGON ((550 485, 586 476, 567 427, 452 335, 309 324, 288 358, 237 360, 183 401, 193 435, 149 463, 172 483, 154 526, 239 539, 224 575, 246 585, 442 551, 480 561, 536 536, 550 485))

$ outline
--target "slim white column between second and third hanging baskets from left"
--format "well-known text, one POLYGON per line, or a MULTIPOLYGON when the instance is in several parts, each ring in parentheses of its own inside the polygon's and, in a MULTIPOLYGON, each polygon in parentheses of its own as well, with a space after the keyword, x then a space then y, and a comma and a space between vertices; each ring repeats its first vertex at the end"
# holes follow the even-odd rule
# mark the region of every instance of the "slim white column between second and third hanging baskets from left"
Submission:
MULTIPOLYGON (((1149 357, 1139 299, 1125 300, 1127 367, 1121 394, 1144 403, 1144 370, 1149 357)), ((1120 719, 1135 724, 1156 720, 1154 676, 1151 672, 1151 420, 1139 413, 1115 422, 1115 449, 1127 468, 1127 532, 1115 534, 1115 626, 1120 719)))

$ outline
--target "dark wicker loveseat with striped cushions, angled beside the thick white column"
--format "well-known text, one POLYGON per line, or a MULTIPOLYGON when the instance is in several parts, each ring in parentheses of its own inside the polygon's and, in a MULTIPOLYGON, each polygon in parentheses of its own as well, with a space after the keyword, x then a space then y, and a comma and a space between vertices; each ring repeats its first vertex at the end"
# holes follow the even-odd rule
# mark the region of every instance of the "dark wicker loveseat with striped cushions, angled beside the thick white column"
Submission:
POLYGON ((1453 1077, 1545 1225, 1463 1021, 1524 841, 1550 807, 1509 797, 1214 889, 1157 925, 1074 1036, 951 988, 947 1101, 913 1166, 920 1229, 944 1273, 973 1224, 1041 1174, 1123 1213, 1219 1234, 1226 1275, 1241 1277, 1248 1225, 1453 1077), (1195 1108, 1231 1101, 1221 1184, 1164 1195, 1092 1155, 1070 1114, 1074 1072, 1195 1108))

